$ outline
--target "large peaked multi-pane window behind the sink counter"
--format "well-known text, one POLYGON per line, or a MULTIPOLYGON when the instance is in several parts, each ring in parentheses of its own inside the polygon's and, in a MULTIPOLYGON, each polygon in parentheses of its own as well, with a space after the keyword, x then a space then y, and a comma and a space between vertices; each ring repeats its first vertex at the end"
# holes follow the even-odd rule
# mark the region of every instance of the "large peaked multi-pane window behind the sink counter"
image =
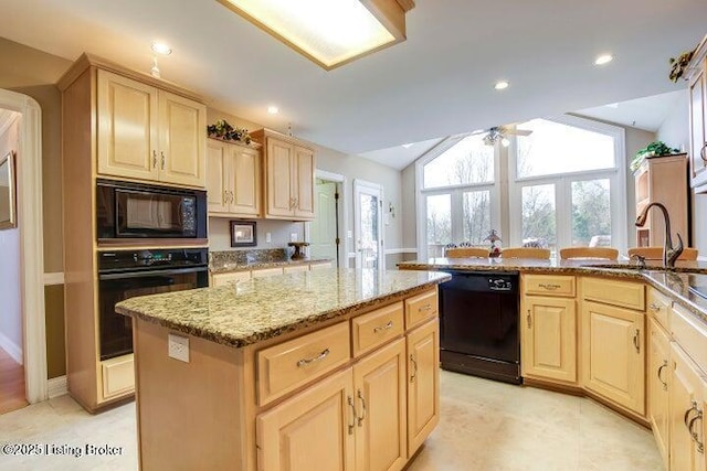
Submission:
POLYGON ((573 116, 517 128, 532 132, 507 149, 457 136, 419 159, 420 258, 486 246, 490 229, 504 246, 625 248, 624 130, 573 116))

